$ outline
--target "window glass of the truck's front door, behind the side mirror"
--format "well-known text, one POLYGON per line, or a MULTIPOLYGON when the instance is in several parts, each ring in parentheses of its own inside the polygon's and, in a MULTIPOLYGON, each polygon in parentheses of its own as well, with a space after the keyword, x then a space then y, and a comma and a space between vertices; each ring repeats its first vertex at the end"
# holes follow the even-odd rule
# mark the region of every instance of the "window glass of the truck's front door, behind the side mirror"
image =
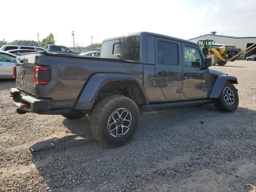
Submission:
POLYGON ((185 65, 188 67, 202 66, 202 58, 197 48, 184 47, 185 65))

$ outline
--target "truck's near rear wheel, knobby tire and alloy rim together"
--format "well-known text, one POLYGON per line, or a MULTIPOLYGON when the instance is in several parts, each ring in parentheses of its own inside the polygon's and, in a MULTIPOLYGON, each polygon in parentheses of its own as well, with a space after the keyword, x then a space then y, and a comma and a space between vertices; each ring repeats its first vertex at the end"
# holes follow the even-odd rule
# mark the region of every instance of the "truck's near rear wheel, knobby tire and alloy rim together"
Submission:
POLYGON ((105 146, 127 143, 138 128, 140 112, 136 103, 122 95, 108 96, 96 104, 91 114, 90 129, 105 146))

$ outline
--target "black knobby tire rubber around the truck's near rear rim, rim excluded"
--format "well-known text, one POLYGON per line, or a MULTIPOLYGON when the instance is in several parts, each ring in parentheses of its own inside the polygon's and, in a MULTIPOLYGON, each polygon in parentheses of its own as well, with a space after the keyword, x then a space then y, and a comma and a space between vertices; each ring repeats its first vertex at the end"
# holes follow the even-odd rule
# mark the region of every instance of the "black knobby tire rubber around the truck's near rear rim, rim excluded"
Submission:
POLYGON ((118 147, 127 143, 138 128, 140 112, 137 104, 130 98, 122 95, 111 95, 103 98, 92 111, 90 129, 94 138, 108 147, 118 147), (122 136, 115 137, 110 134, 109 120, 118 109, 127 109, 131 114, 129 130, 122 136))

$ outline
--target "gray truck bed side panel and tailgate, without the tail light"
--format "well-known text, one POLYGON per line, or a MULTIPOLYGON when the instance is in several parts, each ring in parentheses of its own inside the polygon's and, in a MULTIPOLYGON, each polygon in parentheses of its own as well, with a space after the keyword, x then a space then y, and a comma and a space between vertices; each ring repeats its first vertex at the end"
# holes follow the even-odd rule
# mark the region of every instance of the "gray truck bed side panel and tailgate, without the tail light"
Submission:
POLYGON ((139 79, 143 76, 143 65, 140 62, 112 58, 42 51, 20 56, 17 60, 16 87, 18 89, 37 98, 51 98, 53 102, 69 103, 68 106, 74 105, 82 88, 93 74, 99 72, 128 73, 139 79), (50 81, 47 84, 34 84, 34 66, 50 68, 50 81))

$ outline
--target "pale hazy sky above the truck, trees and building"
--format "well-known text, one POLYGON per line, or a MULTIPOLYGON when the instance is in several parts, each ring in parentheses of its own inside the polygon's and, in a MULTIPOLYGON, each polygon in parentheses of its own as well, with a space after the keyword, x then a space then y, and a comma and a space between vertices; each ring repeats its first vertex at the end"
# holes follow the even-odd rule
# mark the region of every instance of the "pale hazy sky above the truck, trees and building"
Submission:
POLYGON ((50 32, 56 44, 90 45, 132 32, 182 39, 217 31, 256 36, 256 0, 2 0, 0 40, 40 40, 50 32))

